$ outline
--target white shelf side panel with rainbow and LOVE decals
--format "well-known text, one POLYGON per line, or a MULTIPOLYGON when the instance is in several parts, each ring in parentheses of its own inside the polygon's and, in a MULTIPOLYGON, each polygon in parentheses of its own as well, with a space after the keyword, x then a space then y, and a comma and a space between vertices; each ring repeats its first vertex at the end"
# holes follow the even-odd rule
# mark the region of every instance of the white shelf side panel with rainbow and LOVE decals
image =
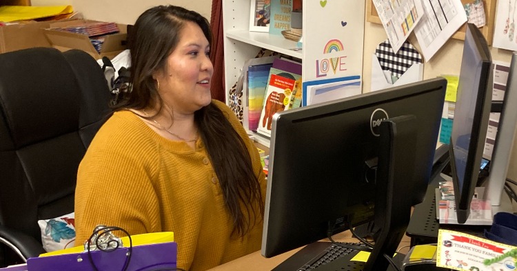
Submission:
POLYGON ((304 1, 303 8, 321 18, 303 22, 302 105, 307 106, 307 86, 361 81, 365 1, 304 1))

